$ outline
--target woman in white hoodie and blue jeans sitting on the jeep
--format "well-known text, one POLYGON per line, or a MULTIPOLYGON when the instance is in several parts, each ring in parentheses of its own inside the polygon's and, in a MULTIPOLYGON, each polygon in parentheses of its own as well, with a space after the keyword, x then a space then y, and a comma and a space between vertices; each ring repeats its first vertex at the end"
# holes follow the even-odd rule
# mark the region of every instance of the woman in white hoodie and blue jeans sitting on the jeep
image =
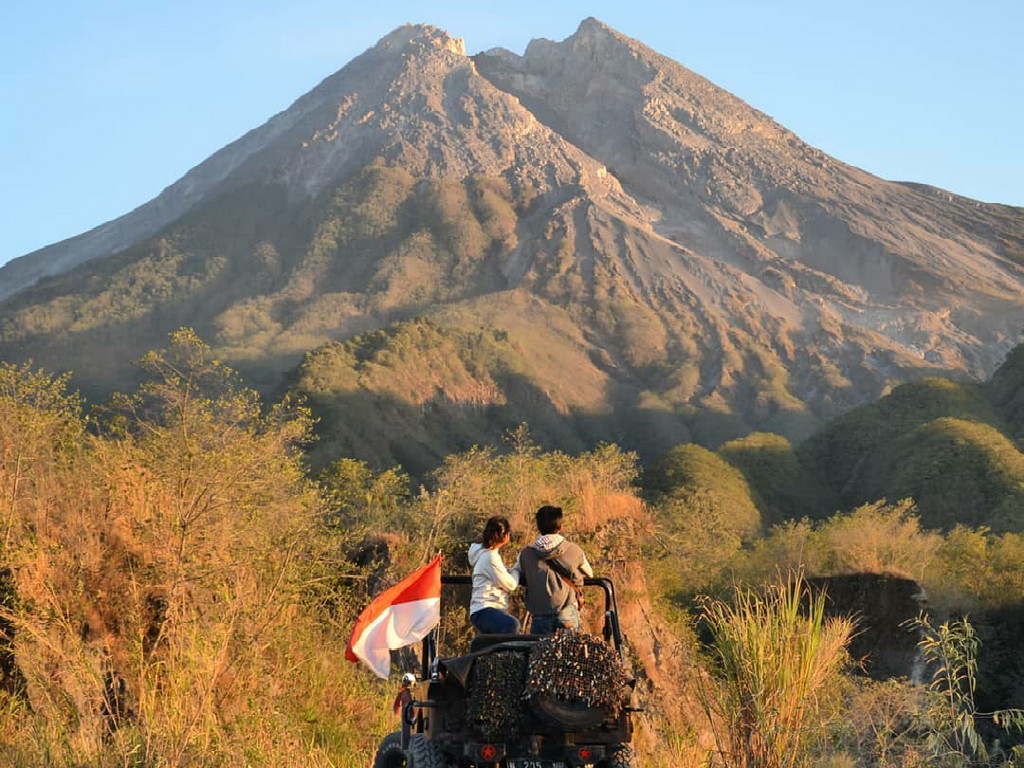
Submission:
POLYGON ((509 595, 519 586, 519 568, 506 568, 500 553, 509 543, 511 530, 508 518, 490 517, 483 525, 483 543, 469 546, 469 564, 473 568, 469 621, 477 632, 488 635, 519 632, 519 620, 508 612, 509 595))

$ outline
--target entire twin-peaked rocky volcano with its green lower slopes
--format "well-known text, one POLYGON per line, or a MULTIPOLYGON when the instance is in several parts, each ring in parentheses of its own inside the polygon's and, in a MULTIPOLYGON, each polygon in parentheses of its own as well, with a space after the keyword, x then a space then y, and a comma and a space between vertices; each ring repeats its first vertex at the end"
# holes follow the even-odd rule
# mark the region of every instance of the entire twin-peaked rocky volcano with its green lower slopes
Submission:
POLYGON ((190 325, 268 389, 321 347, 288 384, 332 451, 654 453, 987 376, 1022 288, 1020 210, 843 165, 599 22, 522 56, 412 26, 0 269, 0 355, 102 393, 190 325))

